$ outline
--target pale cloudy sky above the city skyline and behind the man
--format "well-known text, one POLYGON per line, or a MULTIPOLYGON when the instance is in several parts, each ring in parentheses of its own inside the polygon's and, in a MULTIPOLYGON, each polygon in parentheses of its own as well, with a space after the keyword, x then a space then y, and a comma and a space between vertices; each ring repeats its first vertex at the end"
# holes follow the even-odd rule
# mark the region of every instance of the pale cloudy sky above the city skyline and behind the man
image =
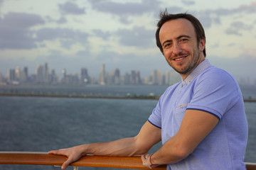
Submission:
POLYGON ((0 0, 0 72, 38 64, 61 74, 100 66, 121 74, 172 70, 156 47, 159 12, 191 13, 206 32, 211 64, 236 79, 256 79, 256 1, 252 0, 0 0))

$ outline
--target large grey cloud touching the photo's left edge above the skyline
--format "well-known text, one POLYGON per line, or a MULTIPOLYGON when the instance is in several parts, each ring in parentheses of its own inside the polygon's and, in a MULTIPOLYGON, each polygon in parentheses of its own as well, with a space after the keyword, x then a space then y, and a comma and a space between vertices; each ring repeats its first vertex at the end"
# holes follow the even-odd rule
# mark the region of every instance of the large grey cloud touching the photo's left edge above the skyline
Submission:
POLYGON ((33 38, 33 26, 43 25, 41 16, 28 13, 7 13, 0 20, 0 49, 33 49, 36 40, 33 38))

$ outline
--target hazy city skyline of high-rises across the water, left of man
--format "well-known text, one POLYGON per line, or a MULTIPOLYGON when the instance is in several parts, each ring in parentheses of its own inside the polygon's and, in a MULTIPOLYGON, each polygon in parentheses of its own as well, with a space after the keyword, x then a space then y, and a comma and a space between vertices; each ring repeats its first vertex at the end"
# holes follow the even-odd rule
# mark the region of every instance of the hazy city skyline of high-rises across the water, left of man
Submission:
POLYGON ((48 63, 38 64, 34 72, 29 72, 28 67, 10 68, 6 75, 0 72, 0 82, 6 84, 100 84, 100 85, 123 85, 123 84, 174 84, 181 77, 174 70, 162 73, 154 69, 145 77, 139 70, 130 70, 122 73, 119 68, 112 71, 105 70, 105 64, 99 68, 98 77, 90 76, 89 70, 80 68, 80 72, 68 73, 66 69, 57 75, 54 68, 48 67, 48 63))

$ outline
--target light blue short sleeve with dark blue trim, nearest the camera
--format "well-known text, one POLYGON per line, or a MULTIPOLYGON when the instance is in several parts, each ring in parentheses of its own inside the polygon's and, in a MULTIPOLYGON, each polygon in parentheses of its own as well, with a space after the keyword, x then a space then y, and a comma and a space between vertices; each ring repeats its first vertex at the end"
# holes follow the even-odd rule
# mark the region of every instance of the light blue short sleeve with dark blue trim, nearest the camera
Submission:
POLYGON ((193 90, 193 98, 187 110, 206 111, 218 119, 242 97, 235 79, 217 68, 203 73, 196 79, 193 90))

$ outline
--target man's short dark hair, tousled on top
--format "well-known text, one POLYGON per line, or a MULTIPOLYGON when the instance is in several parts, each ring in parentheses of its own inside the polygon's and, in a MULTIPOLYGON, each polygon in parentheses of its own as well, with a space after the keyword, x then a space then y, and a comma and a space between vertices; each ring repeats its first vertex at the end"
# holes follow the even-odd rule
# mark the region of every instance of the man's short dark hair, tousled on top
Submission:
MULTIPOLYGON (((175 20, 178 18, 185 18, 188 21, 191 21, 193 27, 195 28, 196 31, 196 38, 198 40, 198 43, 200 42, 201 39, 206 39, 206 35, 205 32, 203 30, 203 26, 201 25, 200 21, 198 21, 198 19, 194 16, 192 16, 191 14, 188 13, 176 13, 176 14, 169 14, 167 12, 167 10, 163 11, 160 13, 160 20, 157 23, 157 30, 156 30, 156 45, 157 47, 159 47, 159 49, 161 50, 161 52, 163 53, 163 47, 161 46, 161 42, 159 39, 159 32, 161 29, 161 26, 164 25, 164 23, 166 23, 167 21, 171 21, 171 20, 175 20)), ((203 55, 206 57, 206 47, 203 50, 203 55)))

